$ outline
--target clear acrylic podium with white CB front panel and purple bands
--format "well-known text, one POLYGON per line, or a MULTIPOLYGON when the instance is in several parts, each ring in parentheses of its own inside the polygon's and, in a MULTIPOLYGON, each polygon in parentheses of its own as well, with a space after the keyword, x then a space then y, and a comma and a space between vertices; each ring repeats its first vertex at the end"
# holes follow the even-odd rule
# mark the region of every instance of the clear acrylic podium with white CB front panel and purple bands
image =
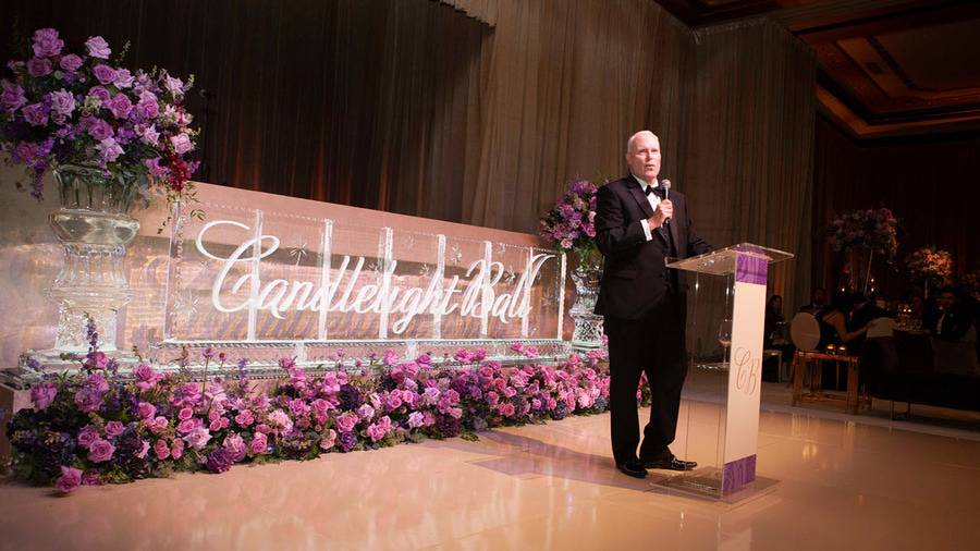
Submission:
POLYGON ((769 265, 789 258, 793 258, 789 253, 742 243, 667 264, 669 268, 693 272, 689 278, 694 280, 695 308, 688 315, 688 331, 695 333, 700 326, 700 334, 710 334, 712 344, 716 335, 716 347, 721 348, 720 363, 698 363, 695 367, 727 375, 722 403, 702 408, 714 412, 718 426, 716 434, 711 434, 714 441, 698 450, 691 450, 689 442, 697 432, 700 432, 697 438, 707 440, 706 432, 712 432, 709 428, 712 414, 693 413, 695 404, 688 401, 686 418, 682 416, 682 423, 687 423, 684 445, 688 448, 687 454, 702 460, 701 467, 667 479, 667 486, 728 501, 738 501, 756 488, 765 282, 769 265), (723 302, 720 293, 724 293, 723 302), (700 320, 698 301, 706 298, 714 298, 715 306, 709 319, 700 320), (703 323, 708 323, 707 328, 703 323), (711 461, 703 461, 706 457, 711 461))

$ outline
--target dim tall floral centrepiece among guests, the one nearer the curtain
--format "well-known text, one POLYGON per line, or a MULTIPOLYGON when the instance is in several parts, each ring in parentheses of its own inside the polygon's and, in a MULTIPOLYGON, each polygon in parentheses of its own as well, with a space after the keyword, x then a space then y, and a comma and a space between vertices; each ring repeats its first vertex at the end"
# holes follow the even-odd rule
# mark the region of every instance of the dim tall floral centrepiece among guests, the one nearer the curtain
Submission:
POLYGON ((834 252, 865 246, 891 261, 898 252, 898 221, 884 207, 852 210, 831 221, 828 241, 834 252))

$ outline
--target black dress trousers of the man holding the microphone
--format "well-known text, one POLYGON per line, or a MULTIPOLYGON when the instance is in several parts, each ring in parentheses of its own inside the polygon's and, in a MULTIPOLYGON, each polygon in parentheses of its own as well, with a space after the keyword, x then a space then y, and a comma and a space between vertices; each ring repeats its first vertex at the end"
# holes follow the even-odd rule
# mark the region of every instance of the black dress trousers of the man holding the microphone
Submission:
POLYGON ((617 465, 637 460, 636 392, 642 372, 647 374, 653 400, 639 458, 651 460, 666 452, 674 441, 681 389, 687 376, 682 320, 675 299, 657 306, 639 320, 609 316, 604 319, 609 338, 611 436, 617 465))

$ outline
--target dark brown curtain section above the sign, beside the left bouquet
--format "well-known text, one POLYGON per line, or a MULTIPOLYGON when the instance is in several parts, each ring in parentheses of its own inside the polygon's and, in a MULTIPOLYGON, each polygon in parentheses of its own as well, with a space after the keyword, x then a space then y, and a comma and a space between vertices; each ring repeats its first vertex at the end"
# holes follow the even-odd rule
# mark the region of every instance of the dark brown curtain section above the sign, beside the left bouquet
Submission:
POLYGON ((438 197, 426 188, 463 179, 461 136, 478 124, 467 98, 479 94, 475 69, 490 29, 448 5, 3 0, 0 15, 11 38, 54 27, 78 53, 89 36, 113 53, 130 40, 123 66, 194 74, 187 105, 206 131, 196 180, 461 219, 458 185, 437 186, 450 189, 438 197))

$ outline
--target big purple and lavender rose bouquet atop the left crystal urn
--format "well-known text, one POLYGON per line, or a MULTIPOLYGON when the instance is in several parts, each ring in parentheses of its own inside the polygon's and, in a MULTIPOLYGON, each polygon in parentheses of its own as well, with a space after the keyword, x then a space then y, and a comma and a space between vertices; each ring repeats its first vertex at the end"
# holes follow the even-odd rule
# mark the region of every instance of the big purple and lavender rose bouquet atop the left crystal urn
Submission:
POLYGON ((26 61, 10 61, 12 79, 0 82, 0 149, 26 166, 30 194, 41 198, 49 168, 81 166, 135 186, 144 201, 193 199, 198 163, 187 156, 197 132, 182 102, 194 77, 123 69, 127 47, 110 61, 100 36, 82 54, 63 48, 58 30, 36 30, 26 61))

